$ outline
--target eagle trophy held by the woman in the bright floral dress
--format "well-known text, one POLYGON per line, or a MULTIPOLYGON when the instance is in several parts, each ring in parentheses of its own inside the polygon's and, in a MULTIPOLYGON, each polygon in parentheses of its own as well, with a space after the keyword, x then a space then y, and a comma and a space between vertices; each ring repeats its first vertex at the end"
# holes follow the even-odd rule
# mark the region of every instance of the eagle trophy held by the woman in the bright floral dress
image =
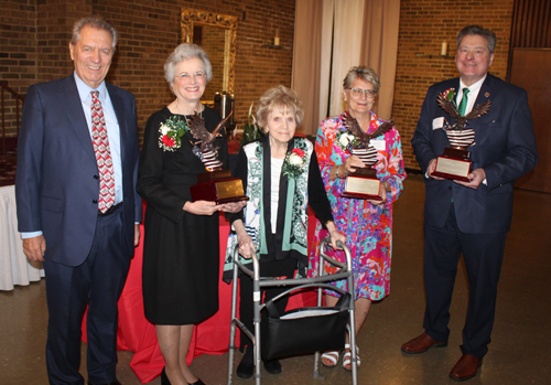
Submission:
POLYGON ((342 196, 359 200, 382 201, 382 183, 377 178, 377 171, 374 169, 377 160, 377 149, 369 142, 388 132, 395 124, 395 119, 380 125, 374 132, 366 133, 361 130, 358 121, 346 111, 343 125, 353 133, 357 140, 355 143, 348 143, 346 149, 353 156, 358 157, 365 168, 357 168, 356 171, 346 177, 345 191, 342 196))

